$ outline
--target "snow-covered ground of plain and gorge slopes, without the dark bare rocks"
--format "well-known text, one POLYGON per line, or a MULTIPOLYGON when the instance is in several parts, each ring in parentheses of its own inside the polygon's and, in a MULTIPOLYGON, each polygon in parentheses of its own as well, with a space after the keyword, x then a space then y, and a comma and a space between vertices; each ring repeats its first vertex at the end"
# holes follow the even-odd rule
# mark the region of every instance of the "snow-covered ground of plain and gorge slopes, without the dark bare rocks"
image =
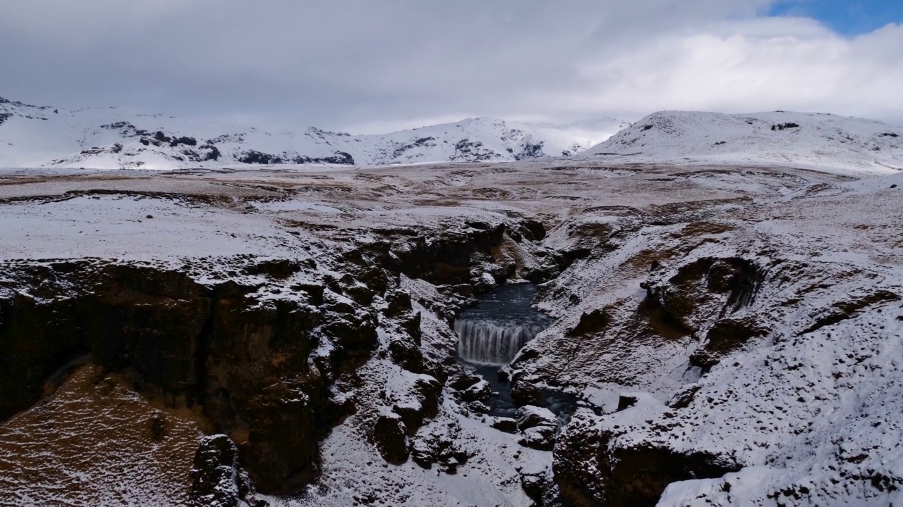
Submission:
MULTIPOLYGON (((730 456, 740 468, 723 478, 671 484, 663 505, 888 505, 903 501, 894 496, 903 487, 901 303, 881 300, 852 318, 805 329, 835 303, 877 290, 903 295, 903 176, 855 180, 851 174, 863 174, 840 171, 845 175, 596 161, 163 173, 11 170, 0 173, 0 260, 100 257, 180 266, 201 257, 294 258, 300 251, 316 259, 370 241, 368 229, 375 226, 442 229, 465 220, 537 218, 549 230, 545 248, 590 253, 544 286, 540 307, 559 320, 528 347, 541 354, 523 362, 526 376, 539 383, 554 376, 559 387, 582 396, 588 408, 575 417, 574 428, 618 428, 619 447, 704 450, 730 456), (720 226, 703 230, 701 223, 720 226), (657 253, 667 254, 650 273, 657 253), (567 335, 592 309, 627 315, 646 296, 640 282, 664 287, 681 266, 728 256, 806 267, 785 282, 769 271, 755 302, 735 316, 763 320, 768 334, 702 376, 688 361, 717 318, 703 310, 694 317, 696 333, 675 339, 567 335), (669 408, 672 396, 691 384, 698 387, 694 401, 669 408), (635 395, 637 405, 605 415, 622 393, 635 395), (884 490, 870 486, 873 481, 884 490), (769 497, 773 492, 780 495, 769 497)), ((526 248, 509 247, 506 252, 526 248)), ((404 281, 403 288, 423 300, 440 297, 422 281, 404 281)), ((419 303, 417 309, 424 317, 424 354, 447 354, 454 346, 447 323, 419 303)), ((415 380, 378 356, 359 374, 366 383, 357 394, 372 400, 386 386, 391 398, 392 386, 415 380)), ((365 436, 364 423, 379 407, 377 401, 366 405, 323 441, 318 483, 297 497, 268 500, 526 506, 533 501, 522 477, 551 474, 553 453, 522 447, 517 436, 491 429, 448 388, 439 416, 414 438, 451 442, 471 456, 467 463, 453 475, 410 461, 387 465, 365 436)), ((52 441, 30 429, 30 420, 11 419, 0 432, 52 441)), ((0 447, 6 462, 23 456, 15 452, 28 452, 0 447)), ((34 474, 44 482, 24 482, 0 468, 15 498, 50 487, 50 475, 40 469, 34 474)), ((177 487, 159 480, 161 491, 177 487)), ((98 498, 118 487, 93 484, 98 498)), ((155 502, 154 494, 163 493, 142 494, 155 502)))

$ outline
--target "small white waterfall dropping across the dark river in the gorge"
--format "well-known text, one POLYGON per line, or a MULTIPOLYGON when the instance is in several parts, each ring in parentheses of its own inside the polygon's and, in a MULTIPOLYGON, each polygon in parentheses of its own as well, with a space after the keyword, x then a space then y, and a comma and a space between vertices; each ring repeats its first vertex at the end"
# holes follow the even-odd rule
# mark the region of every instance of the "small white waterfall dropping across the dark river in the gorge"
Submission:
POLYGON ((461 318, 454 323, 458 357, 478 364, 508 364, 521 347, 543 331, 543 324, 514 324, 498 320, 461 318))

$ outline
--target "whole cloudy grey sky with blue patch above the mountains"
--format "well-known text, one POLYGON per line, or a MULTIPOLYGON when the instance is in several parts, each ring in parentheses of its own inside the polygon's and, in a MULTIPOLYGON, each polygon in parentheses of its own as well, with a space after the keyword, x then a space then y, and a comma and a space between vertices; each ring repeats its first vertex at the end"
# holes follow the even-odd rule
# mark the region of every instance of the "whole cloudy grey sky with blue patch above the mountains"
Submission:
POLYGON ((354 133, 467 116, 903 123, 899 0, 2 0, 0 97, 354 133))

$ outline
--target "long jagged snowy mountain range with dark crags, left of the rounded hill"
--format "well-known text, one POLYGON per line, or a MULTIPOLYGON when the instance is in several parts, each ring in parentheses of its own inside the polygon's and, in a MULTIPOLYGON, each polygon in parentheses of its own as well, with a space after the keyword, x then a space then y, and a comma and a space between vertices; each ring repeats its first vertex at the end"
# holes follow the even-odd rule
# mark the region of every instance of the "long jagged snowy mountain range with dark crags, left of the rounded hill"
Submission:
POLYGON ((391 134, 253 126, 64 110, 0 98, 0 167, 177 169, 241 164, 377 165, 429 161, 513 161, 570 156, 627 126, 612 118, 530 124, 468 118, 391 134))

